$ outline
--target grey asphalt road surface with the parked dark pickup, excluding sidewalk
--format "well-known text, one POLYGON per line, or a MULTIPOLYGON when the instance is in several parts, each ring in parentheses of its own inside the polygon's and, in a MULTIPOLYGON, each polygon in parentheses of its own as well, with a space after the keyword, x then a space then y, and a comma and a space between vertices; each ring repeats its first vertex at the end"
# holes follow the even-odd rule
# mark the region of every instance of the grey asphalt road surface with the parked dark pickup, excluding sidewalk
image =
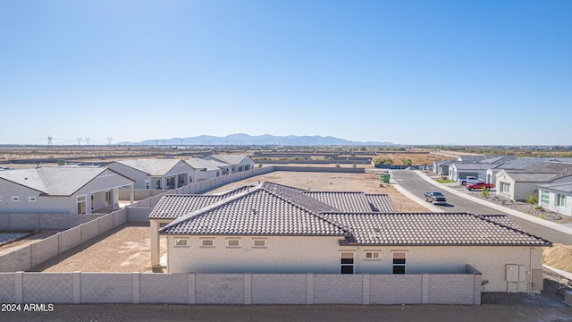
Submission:
MULTIPOLYGON (((393 179, 398 182, 402 188, 405 188, 419 198, 423 198, 425 191, 438 190, 436 189, 435 185, 426 182, 413 171, 394 170, 391 172, 391 174, 393 175, 393 179)), ((534 224, 527 220, 518 218, 516 216, 511 216, 508 213, 504 213, 493 208, 488 208, 479 203, 458 197, 451 193, 446 193, 446 197, 448 202, 447 205, 435 205, 435 207, 442 208, 442 210, 445 212, 470 212, 475 215, 507 215, 514 219, 514 221, 528 233, 543 237, 544 239, 547 239, 553 243, 572 245, 572 235, 568 233, 562 233, 543 225, 534 224)))

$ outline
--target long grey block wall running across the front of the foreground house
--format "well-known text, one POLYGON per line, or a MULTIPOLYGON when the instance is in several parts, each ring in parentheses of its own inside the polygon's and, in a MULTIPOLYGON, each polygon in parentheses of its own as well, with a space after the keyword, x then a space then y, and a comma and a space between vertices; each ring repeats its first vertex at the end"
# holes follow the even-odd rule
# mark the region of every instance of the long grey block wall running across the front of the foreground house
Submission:
POLYGON ((0 290, 4 303, 480 305, 481 275, 15 272, 0 290))

